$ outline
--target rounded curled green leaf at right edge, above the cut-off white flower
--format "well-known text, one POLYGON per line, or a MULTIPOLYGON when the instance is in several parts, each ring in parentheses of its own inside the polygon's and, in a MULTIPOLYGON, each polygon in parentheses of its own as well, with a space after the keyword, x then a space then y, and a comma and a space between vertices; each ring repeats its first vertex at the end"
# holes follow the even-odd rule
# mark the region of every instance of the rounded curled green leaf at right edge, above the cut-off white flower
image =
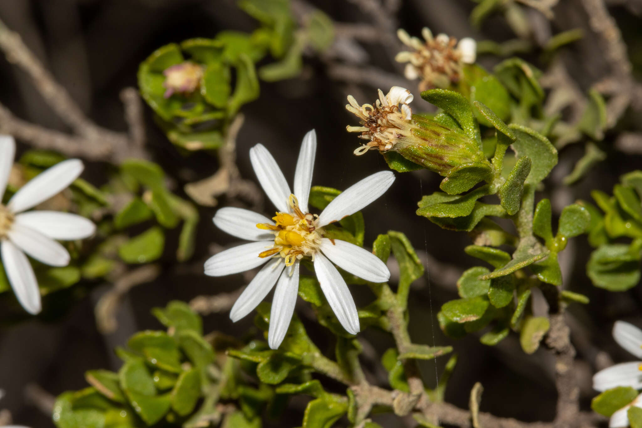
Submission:
POLYGON ((640 280, 639 254, 626 244, 605 244, 591 253, 586 273, 593 285, 609 291, 626 291, 640 280))

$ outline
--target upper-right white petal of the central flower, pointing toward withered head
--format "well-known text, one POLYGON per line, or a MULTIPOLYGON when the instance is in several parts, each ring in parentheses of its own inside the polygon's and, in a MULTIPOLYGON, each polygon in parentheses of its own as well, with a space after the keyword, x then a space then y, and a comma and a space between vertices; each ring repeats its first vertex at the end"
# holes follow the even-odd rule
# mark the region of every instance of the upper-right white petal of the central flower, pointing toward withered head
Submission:
POLYGON ((392 171, 381 171, 351 185, 327 204, 318 218, 318 227, 339 221, 369 205, 384 194, 394 181, 395 175, 392 171))

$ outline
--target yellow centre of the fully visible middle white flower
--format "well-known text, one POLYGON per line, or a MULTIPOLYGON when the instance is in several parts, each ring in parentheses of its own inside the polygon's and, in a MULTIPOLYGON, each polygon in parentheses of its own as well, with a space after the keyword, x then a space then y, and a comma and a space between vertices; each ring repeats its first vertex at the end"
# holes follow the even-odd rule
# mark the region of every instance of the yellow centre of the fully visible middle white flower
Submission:
POLYGON ((304 213, 299 209, 296 196, 288 199, 290 212, 277 212, 272 219, 276 225, 259 223, 257 228, 270 230, 274 234, 274 246, 259 254, 259 257, 280 256, 285 259, 286 266, 292 266, 303 257, 314 259, 318 251, 322 228, 317 228, 318 216, 304 213))

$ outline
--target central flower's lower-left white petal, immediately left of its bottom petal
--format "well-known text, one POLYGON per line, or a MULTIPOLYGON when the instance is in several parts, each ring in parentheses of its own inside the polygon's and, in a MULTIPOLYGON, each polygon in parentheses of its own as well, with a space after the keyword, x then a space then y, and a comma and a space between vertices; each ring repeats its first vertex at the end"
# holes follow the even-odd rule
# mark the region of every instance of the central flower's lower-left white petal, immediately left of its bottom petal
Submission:
POLYGON ((281 257, 271 259, 268 264, 263 266, 236 299, 236 303, 230 311, 230 320, 236 322, 254 311, 254 308, 270 293, 284 267, 285 263, 282 262, 281 257))

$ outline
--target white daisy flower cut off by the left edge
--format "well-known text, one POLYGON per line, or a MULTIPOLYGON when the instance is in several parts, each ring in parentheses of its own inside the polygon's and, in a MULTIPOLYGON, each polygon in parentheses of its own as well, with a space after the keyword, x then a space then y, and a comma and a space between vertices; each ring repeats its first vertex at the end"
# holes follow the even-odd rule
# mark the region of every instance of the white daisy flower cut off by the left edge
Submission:
POLYGON ((83 171, 83 163, 69 159, 36 176, 2 205, 9 181, 15 141, 0 135, 0 255, 13 292, 30 314, 40 312, 40 290, 25 253, 49 266, 67 266, 69 252, 55 239, 73 241, 94 233, 96 226, 84 217, 67 212, 29 211, 60 193, 83 171))

